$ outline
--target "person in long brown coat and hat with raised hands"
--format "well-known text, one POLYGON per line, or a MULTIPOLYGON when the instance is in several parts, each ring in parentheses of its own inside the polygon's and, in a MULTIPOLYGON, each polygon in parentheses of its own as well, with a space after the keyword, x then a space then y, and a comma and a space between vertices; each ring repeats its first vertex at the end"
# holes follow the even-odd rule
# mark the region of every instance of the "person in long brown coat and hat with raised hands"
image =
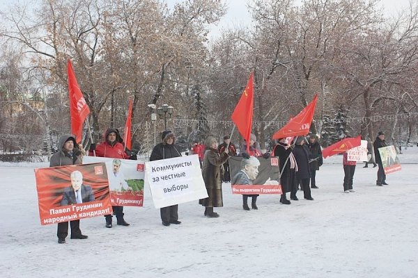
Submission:
POLYGON ((224 174, 223 164, 228 161, 229 149, 219 153, 216 138, 209 136, 205 142, 206 151, 203 156, 202 176, 205 181, 208 197, 200 199, 199 204, 205 207, 204 215, 209 218, 219 217, 218 213, 213 212, 213 208, 224 206, 222 200, 222 175, 224 174))

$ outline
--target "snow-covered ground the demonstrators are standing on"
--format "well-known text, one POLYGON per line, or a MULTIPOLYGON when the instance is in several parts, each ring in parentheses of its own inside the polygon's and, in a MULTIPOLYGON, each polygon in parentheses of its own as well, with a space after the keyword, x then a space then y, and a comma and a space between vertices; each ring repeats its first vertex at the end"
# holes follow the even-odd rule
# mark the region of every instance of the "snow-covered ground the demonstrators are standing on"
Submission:
POLYGON ((258 211, 227 183, 219 218, 189 202, 170 227, 146 188, 143 208, 125 207, 130 227, 81 220, 88 239, 65 244, 56 224, 40 225, 33 169, 47 164, 0 163, 0 277, 418 277, 418 148, 400 159, 383 187, 359 163, 349 194, 342 156, 325 159, 314 201, 261 195, 258 211))

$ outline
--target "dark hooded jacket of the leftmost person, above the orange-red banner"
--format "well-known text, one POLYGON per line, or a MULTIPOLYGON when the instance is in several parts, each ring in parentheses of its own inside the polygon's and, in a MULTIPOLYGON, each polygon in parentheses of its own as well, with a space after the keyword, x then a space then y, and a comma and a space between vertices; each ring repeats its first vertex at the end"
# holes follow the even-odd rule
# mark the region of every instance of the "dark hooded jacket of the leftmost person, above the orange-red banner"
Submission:
POLYGON ((49 167, 82 163, 82 152, 80 152, 77 147, 77 142, 75 141, 75 137, 73 135, 68 134, 61 136, 58 140, 58 149, 58 152, 52 154, 51 160, 49 161, 49 167), (72 152, 67 152, 63 149, 64 144, 68 141, 68 139, 72 140, 74 143, 74 149, 72 149, 72 152))

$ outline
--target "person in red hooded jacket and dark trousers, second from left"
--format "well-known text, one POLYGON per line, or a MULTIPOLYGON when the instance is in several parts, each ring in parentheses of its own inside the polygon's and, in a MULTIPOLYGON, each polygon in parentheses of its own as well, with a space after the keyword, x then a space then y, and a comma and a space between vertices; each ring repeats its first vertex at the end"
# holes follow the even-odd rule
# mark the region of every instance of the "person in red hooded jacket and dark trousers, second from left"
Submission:
MULTIPOLYGON (((117 129, 107 129, 103 136, 104 141, 99 145, 91 144, 89 155, 100 156, 100 157, 109 157, 109 158, 121 158, 129 159, 130 156, 125 151, 125 145, 123 145, 123 140, 119 135, 117 129)), ((117 224, 122 226, 129 226, 129 224, 123 219, 123 206, 112 206, 114 214, 116 215, 117 224)), ((106 227, 111 228, 111 218, 112 215, 104 215, 106 218, 106 227)))

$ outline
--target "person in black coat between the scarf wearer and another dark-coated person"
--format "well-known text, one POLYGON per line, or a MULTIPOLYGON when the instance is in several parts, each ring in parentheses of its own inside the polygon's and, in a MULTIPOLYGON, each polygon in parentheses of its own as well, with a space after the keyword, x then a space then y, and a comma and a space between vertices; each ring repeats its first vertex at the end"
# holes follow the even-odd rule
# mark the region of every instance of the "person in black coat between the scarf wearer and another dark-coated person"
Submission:
POLYGON ((309 168, 309 149, 304 145, 304 136, 297 137, 295 149, 293 149, 297 163, 296 182, 302 183, 303 195, 307 200, 313 200, 309 179, 311 179, 311 170, 309 168))

